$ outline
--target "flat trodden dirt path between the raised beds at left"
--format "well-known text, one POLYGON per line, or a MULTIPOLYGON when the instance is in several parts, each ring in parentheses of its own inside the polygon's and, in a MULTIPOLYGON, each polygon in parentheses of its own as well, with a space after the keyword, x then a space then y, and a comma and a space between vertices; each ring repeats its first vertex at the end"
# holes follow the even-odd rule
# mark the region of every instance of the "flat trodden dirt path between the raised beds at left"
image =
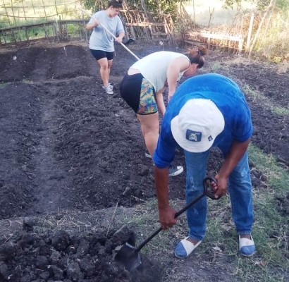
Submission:
MULTIPOLYGON (((56 92, 56 87, 50 87, 50 92, 56 92)), ((28 215, 51 214, 69 208, 69 195, 65 191, 70 187, 70 179, 63 169, 61 161, 55 158, 55 132, 58 130, 55 120, 55 101, 44 97, 42 103, 41 139, 35 148, 35 197, 36 200, 28 215)))

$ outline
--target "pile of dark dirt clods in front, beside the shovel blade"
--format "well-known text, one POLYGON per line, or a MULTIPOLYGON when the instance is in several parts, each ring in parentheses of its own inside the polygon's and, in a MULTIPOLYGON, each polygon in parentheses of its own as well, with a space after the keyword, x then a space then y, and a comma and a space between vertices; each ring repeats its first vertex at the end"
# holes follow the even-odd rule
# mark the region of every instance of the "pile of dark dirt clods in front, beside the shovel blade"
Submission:
POLYGON ((0 244, 0 281, 13 282, 157 282, 161 267, 142 258, 132 272, 113 257, 125 242, 134 243, 134 234, 126 226, 105 235, 94 230, 85 237, 55 233, 37 233, 38 221, 25 218, 23 230, 0 244))

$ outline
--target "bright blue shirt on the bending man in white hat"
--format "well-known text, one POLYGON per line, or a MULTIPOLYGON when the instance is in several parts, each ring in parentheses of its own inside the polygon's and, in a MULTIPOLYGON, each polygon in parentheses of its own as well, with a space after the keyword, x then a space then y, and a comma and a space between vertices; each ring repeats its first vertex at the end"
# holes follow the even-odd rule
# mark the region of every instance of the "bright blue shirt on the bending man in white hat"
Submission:
POLYGON ((213 147, 219 147, 225 156, 233 140, 244 142, 252 136, 251 112, 238 85, 215 73, 197 75, 183 82, 168 103, 153 157, 158 168, 168 167, 175 157, 178 144, 171 133, 171 120, 188 100, 196 98, 210 99, 223 114, 225 127, 213 147))

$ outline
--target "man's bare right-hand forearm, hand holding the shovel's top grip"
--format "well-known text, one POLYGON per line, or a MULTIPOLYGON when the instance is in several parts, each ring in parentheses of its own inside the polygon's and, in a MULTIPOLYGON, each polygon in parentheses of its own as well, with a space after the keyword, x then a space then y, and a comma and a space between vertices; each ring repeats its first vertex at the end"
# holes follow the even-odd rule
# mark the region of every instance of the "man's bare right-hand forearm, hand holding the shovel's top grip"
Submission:
POLYGON ((242 156, 247 151, 249 142, 249 139, 245 142, 233 141, 233 144, 230 147, 230 152, 228 153, 225 161, 223 161, 219 172, 215 176, 216 180, 218 180, 217 185, 215 185, 216 197, 226 194, 228 177, 238 164, 238 161, 240 161, 242 156))

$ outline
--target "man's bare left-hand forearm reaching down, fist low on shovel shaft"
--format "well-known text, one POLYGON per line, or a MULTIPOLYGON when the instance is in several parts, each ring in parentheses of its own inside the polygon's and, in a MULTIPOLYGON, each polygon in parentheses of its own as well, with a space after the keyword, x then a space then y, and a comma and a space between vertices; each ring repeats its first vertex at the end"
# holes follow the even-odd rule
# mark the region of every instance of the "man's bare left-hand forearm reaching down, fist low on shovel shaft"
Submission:
POLYGON ((176 211, 168 202, 168 168, 154 168, 156 196, 159 207, 159 221, 163 229, 168 229, 176 224, 176 211))

